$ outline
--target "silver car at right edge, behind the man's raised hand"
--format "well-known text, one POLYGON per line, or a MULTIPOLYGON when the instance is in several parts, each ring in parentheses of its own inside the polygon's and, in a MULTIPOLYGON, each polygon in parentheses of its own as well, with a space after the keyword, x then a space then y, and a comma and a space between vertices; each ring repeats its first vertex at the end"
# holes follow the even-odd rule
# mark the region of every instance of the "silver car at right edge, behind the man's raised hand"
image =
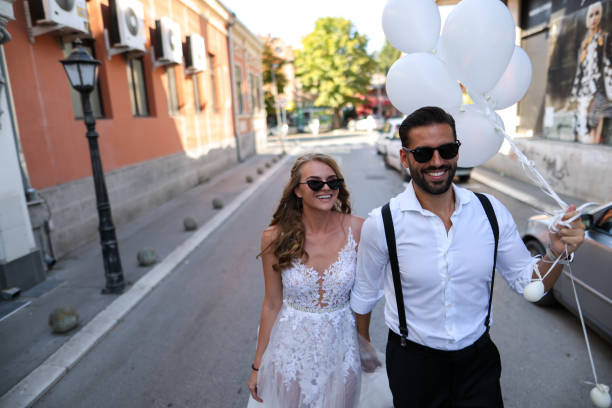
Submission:
MULTIPOLYGON (((586 236, 571 264, 580 307, 587 324, 612 343, 612 202, 594 208, 583 215, 582 220, 586 225, 586 236)), ((529 219, 523 242, 532 255, 546 252, 550 222, 551 217, 547 215, 529 219)), ((548 306, 556 302, 572 313, 578 313, 567 266, 538 305, 548 306)))

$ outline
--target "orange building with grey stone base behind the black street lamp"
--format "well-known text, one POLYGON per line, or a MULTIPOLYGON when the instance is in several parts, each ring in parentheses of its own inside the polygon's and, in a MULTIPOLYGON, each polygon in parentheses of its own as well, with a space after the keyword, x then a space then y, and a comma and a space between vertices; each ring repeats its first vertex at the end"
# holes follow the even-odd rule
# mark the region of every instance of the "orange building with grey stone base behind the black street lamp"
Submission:
POLYGON ((1 116, 13 147, 3 137, 10 161, 1 165, 0 208, 14 211, 13 221, 0 220, 2 288, 44 278, 24 268, 2 272, 15 270, 16 259, 34 253, 40 260, 42 250, 51 264, 98 234, 80 99, 59 62, 76 38, 101 61, 91 101, 115 224, 255 154, 258 138, 265 141, 263 45, 220 2, 28 0, 13 11, 1 116), (13 241, 22 241, 21 257, 7 256, 13 241))

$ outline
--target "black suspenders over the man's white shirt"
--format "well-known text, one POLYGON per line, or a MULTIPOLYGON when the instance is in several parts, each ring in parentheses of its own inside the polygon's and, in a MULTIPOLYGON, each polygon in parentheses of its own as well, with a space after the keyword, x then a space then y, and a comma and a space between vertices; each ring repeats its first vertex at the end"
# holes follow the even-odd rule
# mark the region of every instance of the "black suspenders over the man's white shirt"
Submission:
MULTIPOLYGON (((493 252, 493 271, 491 272, 491 289, 489 293, 489 308, 487 310, 487 318, 485 319, 485 326, 487 332, 489 331, 489 322, 491 319, 491 303, 493 300, 493 283, 495 282, 495 266, 497 263, 497 245, 499 243, 499 226, 497 224, 497 218, 495 217, 495 211, 489 199, 480 193, 474 193, 480 200, 482 207, 487 214, 491 229, 493 230, 493 238, 495 239, 495 251, 493 252)), ((399 262, 397 260, 397 247, 395 244, 395 230, 393 228, 393 218, 391 216, 391 209, 389 203, 383 205, 382 209, 383 224, 385 226, 385 237, 387 239, 387 249, 389 251, 389 262, 391 263, 391 273, 393 275, 393 287, 395 289, 395 300, 397 301, 397 317, 399 320, 399 330, 402 347, 406 347, 406 341, 408 339, 408 326, 406 323, 406 309, 404 308, 404 294, 402 291, 402 283, 400 281, 399 274, 399 262)))

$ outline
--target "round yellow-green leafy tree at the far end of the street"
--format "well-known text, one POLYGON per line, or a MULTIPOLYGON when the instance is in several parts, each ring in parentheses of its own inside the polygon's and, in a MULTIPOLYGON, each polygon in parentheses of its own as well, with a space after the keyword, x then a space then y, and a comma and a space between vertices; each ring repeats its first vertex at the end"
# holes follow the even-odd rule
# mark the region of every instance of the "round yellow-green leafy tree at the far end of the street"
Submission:
POLYGON ((320 18, 315 29, 296 50, 295 71, 302 88, 316 96, 315 106, 333 108, 333 127, 340 126, 340 112, 349 103, 359 103, 367 94, 376 70, 367 53, 368 40, 351 21, 339 17, 320 18))

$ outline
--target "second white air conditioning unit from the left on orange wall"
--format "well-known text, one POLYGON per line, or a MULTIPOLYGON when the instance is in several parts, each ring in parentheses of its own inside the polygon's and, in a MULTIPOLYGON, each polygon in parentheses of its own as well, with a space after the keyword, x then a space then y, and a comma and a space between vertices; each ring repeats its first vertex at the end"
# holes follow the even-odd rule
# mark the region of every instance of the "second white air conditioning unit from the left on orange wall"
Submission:
POLYGON ((125 51, 145 52, 147 34, 142 3, 138 0, 110 0, 109 8, 113 21, 110 29, 111 45, 125 51))

